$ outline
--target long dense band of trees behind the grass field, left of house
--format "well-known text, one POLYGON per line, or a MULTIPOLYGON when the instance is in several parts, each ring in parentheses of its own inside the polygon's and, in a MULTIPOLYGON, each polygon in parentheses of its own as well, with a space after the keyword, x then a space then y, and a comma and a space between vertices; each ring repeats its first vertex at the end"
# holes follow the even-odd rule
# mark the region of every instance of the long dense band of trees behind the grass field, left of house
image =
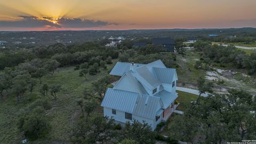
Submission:
POLYGON ((36 46, 33 49, 15 49, 0 53, 0 69, 14 67, 35 58, 57 60, 60 66, 79 65, 98 55, 102 60, 108 57, 116 59, 118 51, 95 42, 75 43, 67 46, 57 43, 49 46, 36 46))

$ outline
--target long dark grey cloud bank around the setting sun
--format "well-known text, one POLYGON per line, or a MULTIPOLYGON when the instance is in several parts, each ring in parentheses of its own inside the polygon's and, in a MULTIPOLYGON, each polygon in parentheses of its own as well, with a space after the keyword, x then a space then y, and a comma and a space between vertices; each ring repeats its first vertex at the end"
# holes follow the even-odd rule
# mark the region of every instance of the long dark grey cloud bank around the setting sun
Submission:
POLYGON ((0 27, 19 27, 19 28, 37 28, 37 27, 55 27, 55 28, 91 28, 107 25, 119 25, 116 22, 94 21, 81 18, 58 18, 43 16, 42 18, 35 16, 20 15, 21 20, 17 21, 0 21, 0 27))

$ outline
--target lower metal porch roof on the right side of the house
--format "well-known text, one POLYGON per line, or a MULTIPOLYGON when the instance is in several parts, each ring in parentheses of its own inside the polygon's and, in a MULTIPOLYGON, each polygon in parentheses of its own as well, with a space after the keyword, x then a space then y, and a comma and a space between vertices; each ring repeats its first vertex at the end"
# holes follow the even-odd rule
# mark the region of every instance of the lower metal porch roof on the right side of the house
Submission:
POLYGON ((164 109, 166 109, 167 107, 169 107, 171 105, 171 103, 178 98, 178 94, 177 93, 170 93, 167 92, 165 90, 158 92, 154 95, 155 97, 161 98, 162 102, 163 102, 163 107, 164 109))

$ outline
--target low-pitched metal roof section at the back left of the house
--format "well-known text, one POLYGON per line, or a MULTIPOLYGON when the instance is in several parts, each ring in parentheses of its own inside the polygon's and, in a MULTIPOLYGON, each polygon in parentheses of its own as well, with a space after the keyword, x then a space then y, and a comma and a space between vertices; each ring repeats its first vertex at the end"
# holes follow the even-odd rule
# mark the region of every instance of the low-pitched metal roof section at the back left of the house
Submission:
MULTIPOLYGON (((145 64, 134 63, 138 67, 143 66, 145 64)), ((111 70, 110 75, 114 76, 123 76, 127 71, 130 70, 131 63, 129 62, 117 62, 115 67, 111 70)))

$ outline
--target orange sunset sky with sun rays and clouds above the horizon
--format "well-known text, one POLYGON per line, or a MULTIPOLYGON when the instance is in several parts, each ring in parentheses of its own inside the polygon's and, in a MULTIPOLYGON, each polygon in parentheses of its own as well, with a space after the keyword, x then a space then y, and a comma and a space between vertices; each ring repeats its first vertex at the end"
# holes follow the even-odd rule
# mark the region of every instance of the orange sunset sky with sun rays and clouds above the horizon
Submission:
POLYGON ((256 0, 0 0, 0 30, 256 27, 256 0))

